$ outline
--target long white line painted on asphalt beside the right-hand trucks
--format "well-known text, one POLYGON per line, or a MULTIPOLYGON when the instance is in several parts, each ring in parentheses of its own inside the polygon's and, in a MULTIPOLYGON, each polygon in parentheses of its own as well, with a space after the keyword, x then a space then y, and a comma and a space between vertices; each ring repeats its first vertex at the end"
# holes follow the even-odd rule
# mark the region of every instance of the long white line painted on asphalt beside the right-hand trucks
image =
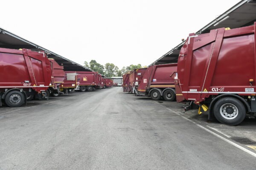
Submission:
MULTIPOLYGON (((157 103, 157 102, 155 102, 155 103, 157 103)), ((159 104, 159 103, 157 103, 157 104, 159 104)), ((176 112, 175 110, 169 109, 169 108, 167 108, 167 107, 165 107, 165 106, 163 106, 163 105, 161 105, 161 104, 159 104, 159 105, 162 106, 162 107, 164 107, 164 108, 166 108, 166 109, 168 109, 168 110, 170 110, 170 111, 172 111, 172 112, 174 112, 174 113, 177 114, 177 115, 180 115, 180 113, 176 112)), ((220 138, 220 139, 226 141, 227 143, 232 144, 233 146, 235 146, 235 147, 237 147, 237 148, 243 150, 243 151, 246 152, 246 153, 249 153, 251 156, 256 157, 256 153, 254 153, 254 152, 252 152, 252 151, 250 151, 250 150, 247 150, 247 149, 244 148, 244 147, 241 147, 239 144, 236 144, 236 143, 234 143, 233 141, 230 141, 230 140, 228 140, 228 139, 222 137, 221 135, 218 135, 217 133, 212 132, 211 130, 209 130, 209 129, 203 127, 203 126, 201 126, 200 124, 197 124, 197 123, 195 123, 195 122, 192 121, 192 120, 189 120, 188 118, 184 117, 183 115, 180 115, 180 116, 181 116, 182 118, 184 118, 184 119, 186 119, 186 120, 192 122, 193 124, 197 125, 197 126, 200 127, 201 129, 203 129, 203 130, 205 130, 205 131, 211 133, 212 135, 215 135, 216 137, 218 137, 218 138, 220 138)))

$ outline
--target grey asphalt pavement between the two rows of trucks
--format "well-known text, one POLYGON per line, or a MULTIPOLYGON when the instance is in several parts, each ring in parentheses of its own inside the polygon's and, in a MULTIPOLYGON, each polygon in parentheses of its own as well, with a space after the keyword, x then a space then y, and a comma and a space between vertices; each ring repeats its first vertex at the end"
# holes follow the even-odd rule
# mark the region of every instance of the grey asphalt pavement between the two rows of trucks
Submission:
MULTIPOLYGON (((256 169, 253 149, 230 140, 223 129, 214 131, 218 122, 196 120, 182 107, 121 87, 3 106, 0 170, 256 169)), ((226 133, 239 129, 232 128, 226 133)))

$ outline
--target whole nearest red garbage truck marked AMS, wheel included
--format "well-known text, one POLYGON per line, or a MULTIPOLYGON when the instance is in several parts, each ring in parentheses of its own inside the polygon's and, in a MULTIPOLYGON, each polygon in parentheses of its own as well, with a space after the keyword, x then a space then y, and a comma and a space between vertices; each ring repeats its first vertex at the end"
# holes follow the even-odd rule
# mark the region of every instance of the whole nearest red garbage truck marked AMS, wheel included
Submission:
POLYGON ((209 119, 215 116, 223 124, 237 125, 246 115, 254 117, 255 30, 256 23, 189 34, 178 58, 177 101, 192 101, 199 114, 209 109, 209 119))

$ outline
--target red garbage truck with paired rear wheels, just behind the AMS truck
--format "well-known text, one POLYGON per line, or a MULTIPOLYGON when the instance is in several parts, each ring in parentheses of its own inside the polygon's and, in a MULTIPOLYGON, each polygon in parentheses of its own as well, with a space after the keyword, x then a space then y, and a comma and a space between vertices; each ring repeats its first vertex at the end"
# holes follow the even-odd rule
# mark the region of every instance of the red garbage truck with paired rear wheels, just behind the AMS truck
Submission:
POLYGON ((149 66, 140 84, 135 86, 135 95, 150 96, 152 100, 175 100, 174 76, 177 73, 177 63, 149 66))

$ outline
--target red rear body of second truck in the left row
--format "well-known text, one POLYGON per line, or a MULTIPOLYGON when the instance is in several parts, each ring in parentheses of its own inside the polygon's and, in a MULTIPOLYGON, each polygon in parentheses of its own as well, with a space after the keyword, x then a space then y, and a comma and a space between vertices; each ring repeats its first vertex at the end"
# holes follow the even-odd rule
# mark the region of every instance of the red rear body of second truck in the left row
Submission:
POLYGON ((58 89, 58 86, 63 83, 65 78, 64 67, 58 65, 58 63, 52 58, 49 58, 49 61, 52 68, 52 78, 50 86, 53 89, 58 89))

